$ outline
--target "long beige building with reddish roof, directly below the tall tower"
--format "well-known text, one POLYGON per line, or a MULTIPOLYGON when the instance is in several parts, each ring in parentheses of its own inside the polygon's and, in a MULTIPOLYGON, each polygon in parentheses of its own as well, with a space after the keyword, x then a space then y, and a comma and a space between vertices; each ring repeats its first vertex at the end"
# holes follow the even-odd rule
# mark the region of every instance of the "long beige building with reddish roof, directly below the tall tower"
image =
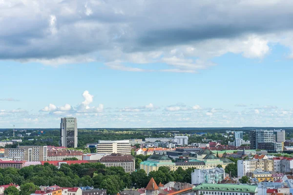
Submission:
POLYGON ((49 151, 48 160, 63 160, 64 158, 76 157, 79 160, 83 159, 84 153, 82 151, 49 151))

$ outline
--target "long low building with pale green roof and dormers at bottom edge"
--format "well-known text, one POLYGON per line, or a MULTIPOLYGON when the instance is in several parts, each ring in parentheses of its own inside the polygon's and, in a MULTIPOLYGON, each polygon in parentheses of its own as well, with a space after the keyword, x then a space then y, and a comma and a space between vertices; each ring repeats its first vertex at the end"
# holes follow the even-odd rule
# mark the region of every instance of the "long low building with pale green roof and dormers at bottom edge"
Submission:
POLYGON ((255 185, 208 184, 203 183, 193 188, 196 195, 257 195, 255 185))

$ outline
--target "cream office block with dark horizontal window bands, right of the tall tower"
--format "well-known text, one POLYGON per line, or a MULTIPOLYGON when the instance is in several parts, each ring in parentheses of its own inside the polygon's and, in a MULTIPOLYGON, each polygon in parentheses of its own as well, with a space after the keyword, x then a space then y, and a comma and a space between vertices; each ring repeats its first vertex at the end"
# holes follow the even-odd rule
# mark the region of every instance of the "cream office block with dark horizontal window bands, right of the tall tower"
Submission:
POLYGON ((116 153, 122 155, 131 155, 131 145, 129 140, 105 141, 99 140, 97 145, 97 153, 116 153))

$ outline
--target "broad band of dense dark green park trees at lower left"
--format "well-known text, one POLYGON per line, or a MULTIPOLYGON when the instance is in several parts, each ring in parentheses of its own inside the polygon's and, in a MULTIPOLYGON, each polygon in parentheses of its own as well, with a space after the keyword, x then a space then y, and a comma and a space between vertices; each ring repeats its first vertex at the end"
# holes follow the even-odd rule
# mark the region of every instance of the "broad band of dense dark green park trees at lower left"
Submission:
MULTIPOLYGON (((137 158, 139 157, 142 156, 137 158)), ((142 169, 129 174, 122 167, 105 167, 101 163, 62 164, 59 169, 44 163, 44 165, 31 165, 21 169, 10 167, 0 169, 0 184, 20 185, 19 195, 30 195, 39 186, 76 187, 80 184, 107 189, 107 194, 115 195, 126 188, 146 187, 151 177, 157 183, 166 184, 169 181, 190 183, 192 171, 192 168, 187 170, 178 168, 176 171, 170 171, 168 167, 160 167, 158 171, 152 171, 147 176, 142 169)), ((6 189, 7 195, 17 195, 15 192, 14 187, 6 189)))

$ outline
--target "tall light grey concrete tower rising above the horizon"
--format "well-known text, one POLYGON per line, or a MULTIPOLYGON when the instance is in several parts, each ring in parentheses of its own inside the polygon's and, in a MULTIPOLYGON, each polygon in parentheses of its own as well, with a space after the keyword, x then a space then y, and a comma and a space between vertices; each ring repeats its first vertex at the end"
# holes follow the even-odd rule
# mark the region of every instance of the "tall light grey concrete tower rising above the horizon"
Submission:
POLYGON ((77 122, 76 118, 61 118, 60 123, 60 146, 77 148, 77 122))

